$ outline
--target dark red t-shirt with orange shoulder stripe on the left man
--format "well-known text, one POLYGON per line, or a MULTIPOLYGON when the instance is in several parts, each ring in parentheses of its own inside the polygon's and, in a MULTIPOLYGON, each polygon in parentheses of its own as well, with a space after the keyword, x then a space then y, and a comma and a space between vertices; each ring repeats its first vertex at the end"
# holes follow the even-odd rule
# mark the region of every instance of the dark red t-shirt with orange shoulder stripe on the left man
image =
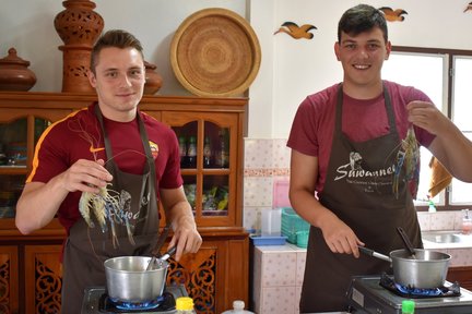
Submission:
MULTIPOLYGON (((36 145, 33 171, 26 182, 46 183, 79 159, 107 161, 113 157, 121 171, 142 173, 146 160, 138 120, 117 122, 104 117, 105 129, 114 154, 114 156, 106 156, 103 134, 94 113, 95 106, 96 104, 92 104, 87 108, 69 114, 51 124, 43 133, 36 145)), ((158 195, 157 189, 179 188, 184 181, 180 174, 177 136, 169 126, 143 112, 139 113, 148 132, 154 157, 156 195, 158 195)), ((81 192, 69 193, 57 213, 59 221, 68 233, 70 227, 81 217, 78 207, 80 196, 81 192)))

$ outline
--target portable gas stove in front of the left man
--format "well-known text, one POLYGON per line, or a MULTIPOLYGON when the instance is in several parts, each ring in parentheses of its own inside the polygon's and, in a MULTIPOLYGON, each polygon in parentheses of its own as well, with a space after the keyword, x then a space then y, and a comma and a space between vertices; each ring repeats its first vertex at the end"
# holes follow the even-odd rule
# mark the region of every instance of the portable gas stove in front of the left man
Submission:
POLYGON ((187 297, 184 285, 167 286, 163 294, 146 303, 119 303, 110 300, 105 287, 93 287, 85 289, 82 302, 82 314, 99 313, 177 313, 175 300, 179 297, 187 297))

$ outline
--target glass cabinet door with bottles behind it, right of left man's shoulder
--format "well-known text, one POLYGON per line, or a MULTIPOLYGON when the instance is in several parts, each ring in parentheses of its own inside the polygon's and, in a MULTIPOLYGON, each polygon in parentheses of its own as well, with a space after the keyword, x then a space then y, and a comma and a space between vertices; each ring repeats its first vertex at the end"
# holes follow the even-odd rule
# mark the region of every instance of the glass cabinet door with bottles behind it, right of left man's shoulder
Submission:
POLYGON ((231 152, 237 152, 237 118, 199 112, 163 112, 162 118, 179 140, 184 190, 197 224, 234 226, 237 165, 231 152))

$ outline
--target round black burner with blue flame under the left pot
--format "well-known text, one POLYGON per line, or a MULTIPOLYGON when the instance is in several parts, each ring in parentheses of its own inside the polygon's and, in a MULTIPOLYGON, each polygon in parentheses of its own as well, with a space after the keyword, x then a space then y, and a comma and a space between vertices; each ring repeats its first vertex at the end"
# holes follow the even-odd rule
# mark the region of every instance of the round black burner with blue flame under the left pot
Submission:
POLYGON ((104 293, 99 299, 98 310, 102 313, 155 313, 175 310, 175 305, 174 295, 166 291, 156 300, 139 303, 117 301, 104 293))

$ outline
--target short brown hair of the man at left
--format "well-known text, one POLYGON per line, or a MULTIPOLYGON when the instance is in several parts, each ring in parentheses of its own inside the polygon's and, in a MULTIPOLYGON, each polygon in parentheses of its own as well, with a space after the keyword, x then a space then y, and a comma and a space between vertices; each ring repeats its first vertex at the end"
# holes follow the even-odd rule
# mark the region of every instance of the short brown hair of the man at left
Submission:
POLYGON ((141 53, 141 57, 143 57, 144 60, 143 48, 141 41, 139 41, 138 38, 126 31, 111 29, 103 34, 92 48, 91 71, 93 73, 95 73, 95 67, 98 62, 98 53, 102 51, 102 49, 109 47, 121 49, 134 48, 141 53))

